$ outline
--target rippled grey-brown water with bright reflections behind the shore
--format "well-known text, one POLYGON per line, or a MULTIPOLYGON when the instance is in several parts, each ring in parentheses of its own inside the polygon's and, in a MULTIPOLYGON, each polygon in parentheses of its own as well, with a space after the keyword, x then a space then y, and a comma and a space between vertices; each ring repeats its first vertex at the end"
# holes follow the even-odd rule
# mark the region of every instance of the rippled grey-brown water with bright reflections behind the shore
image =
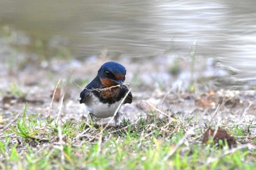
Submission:
POLYGON ((0 23, 31 36, 63 41, 78 56, 101 50, 121 57, 152 55, 214 58, 255 80, 256 1, 30 1, 1 0, 0 23))

